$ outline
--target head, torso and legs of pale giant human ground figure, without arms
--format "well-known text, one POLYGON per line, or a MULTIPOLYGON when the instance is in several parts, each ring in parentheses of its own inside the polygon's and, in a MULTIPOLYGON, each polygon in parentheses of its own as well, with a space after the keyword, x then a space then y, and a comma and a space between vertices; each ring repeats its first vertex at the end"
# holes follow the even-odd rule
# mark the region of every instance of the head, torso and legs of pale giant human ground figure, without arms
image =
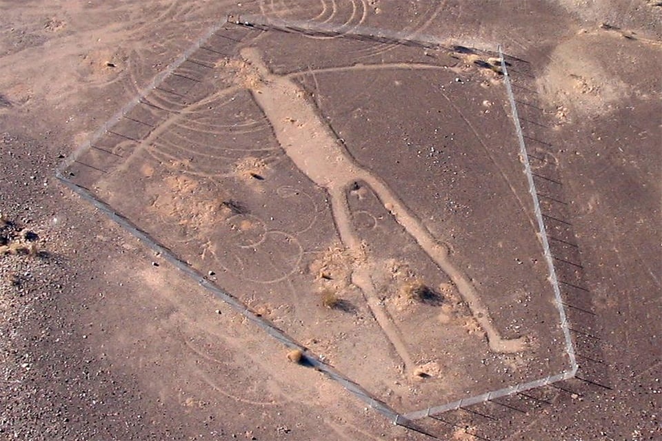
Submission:
MULTIPOLYGON (((320 120, 312 103, 305 99, 305 92, 299 85, 286 76, 272 74, 263 63, 261 54, 254 48, 241 50, 241 57, 252 66, 261 80, 252 83, 251 92, 272 124, 281 147, 301 172, 329 192, 334 222, 345 247, 359 256, 364 254, 361 240, 352 227, 345 194, 348 185, 364 181, 405 231, 448 274, 488 336, 490 349, 496 352, 523 351, 526 347, 524 339, 501 338, 468 276, 450 262, 446 247, 430 234, 381 179, 352 161, 330 127, 320 120)), ((412 358, 399 329, 390 320, 375 293, 370 278, 370 265, 366 259, 360 259, 354 268, 352 283, 363 291, 372 314, 399 353, 405 367, 412 369, 412 358)))

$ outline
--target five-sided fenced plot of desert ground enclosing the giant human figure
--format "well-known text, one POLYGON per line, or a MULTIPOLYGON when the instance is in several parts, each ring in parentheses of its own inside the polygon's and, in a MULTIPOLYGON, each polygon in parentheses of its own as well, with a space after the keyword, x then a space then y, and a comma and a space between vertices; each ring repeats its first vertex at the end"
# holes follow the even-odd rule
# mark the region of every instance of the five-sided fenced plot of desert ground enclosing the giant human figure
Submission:
POLYGON ((396 418, 568 376, 516 61, 234 21, 61 178, 396 418))

